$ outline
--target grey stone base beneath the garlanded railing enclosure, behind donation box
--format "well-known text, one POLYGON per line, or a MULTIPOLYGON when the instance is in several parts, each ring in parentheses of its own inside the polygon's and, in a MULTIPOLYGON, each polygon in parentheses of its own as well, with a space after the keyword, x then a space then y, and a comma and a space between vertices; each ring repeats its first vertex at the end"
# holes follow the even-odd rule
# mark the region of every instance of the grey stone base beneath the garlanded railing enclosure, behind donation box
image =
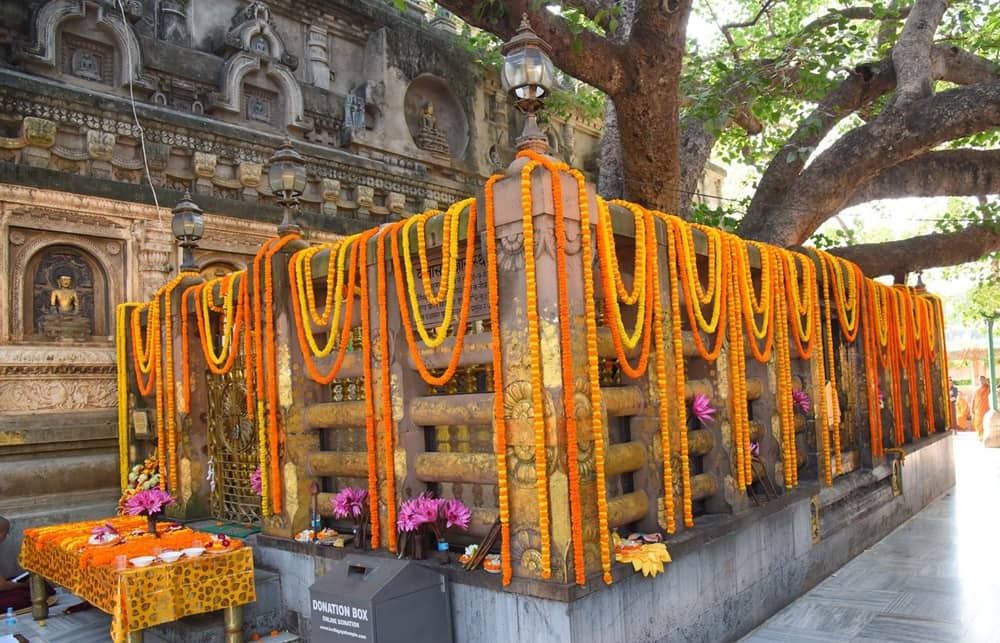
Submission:
MULTIPOLYGON (((504 591, 496 577, 480 578, 484 572, 449 571, 455 640, 735 640, 951 488, 952 451, 950 433, 908 449, 902 495, 893 495, 891 469, 883 466, 843 476, 829 489, 802 485, 737 516, 701 518, 668 543, 674 562, 664 574, 622 574, 619 565, 621 580, 606 587, 593 579, 567 601, 504 591)), ((280 570, 287 624, 307 640, 309 586, 332 561, 271 543, 262 539, 256 559, 280 570)))

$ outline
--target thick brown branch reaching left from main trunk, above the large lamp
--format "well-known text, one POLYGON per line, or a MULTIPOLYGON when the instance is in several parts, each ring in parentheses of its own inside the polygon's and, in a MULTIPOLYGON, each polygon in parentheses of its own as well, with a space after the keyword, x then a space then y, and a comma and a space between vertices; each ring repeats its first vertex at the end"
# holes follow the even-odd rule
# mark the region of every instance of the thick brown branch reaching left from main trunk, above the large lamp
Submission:
POLYGON ((544 4, 532 10, 532 0, 509 0, 500 11, 477 11, 481 0, 441 0, 439 5, 451 11, 468 24, 509 40, 521 22, 521 14, 528 14, 531 28, 552 47, 552 60, 559 69, 570 76, 592 85, 606 94, 621 91, 625 84, 622 49, 608 39, 584 30, 573 33, 566 18, 556 15, 544 4), (580 52, 586 55, 580 55, 580 52))

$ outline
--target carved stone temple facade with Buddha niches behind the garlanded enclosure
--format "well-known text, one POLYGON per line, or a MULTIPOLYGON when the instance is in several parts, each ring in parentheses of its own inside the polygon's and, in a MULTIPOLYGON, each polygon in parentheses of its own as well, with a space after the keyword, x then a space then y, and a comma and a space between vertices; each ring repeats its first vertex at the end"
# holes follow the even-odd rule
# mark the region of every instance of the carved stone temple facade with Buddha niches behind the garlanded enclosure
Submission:
MULTIPOLYGON (((308 172, 298 222, 323 239, 473 194, 521 125, 456 23, 421 3, 0 0, 0 515, 15 537, 119 494, 114 310, 175 274, 185 190, 216 276, 275 234, 268 158, 285 137, 308 172)), ((547 130, 593 170, 598 127, 547 130)))

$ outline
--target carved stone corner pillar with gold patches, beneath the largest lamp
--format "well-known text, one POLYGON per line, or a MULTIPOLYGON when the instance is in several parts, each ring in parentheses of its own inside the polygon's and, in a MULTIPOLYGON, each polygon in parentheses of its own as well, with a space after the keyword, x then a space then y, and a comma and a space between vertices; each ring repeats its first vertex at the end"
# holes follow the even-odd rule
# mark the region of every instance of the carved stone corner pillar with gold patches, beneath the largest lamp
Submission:
MULTIPOLYGON (((583 303, 583 267, 579 241, 579 208, 576 182, 567 174, 562 182, 566 219, 566 277, 570 305, 570 345, 574 379, 563 382, 560 363, 559 291, 557 287, 556 242, 552 184, 547 170, 532 173, 531 207, 534 223, 534 248, 524 245, 521 218, 520 169, 525 161, 516 161, 508 178, 494 186, 496 204, 497 262, 499 265, 500 334, 503 346, 504 406, 507 432, 507 458, 510 480, 511 559, 514 576, 542 577, 540 508, 536 490, 535 431, 531 410, 531 358, 525 333, 529 315, 538 319, 541 343, 541 376, 545 420, 545 457, 548 471, 552 577, 559 583, 573 582, 573 535, 570 522, 568 466, 580 468, 580 496, 584 524, 584 550, 588 572, 599 569, 598 534, 593 433, 590 423, 589 391, 586 364, 586 324, 583 303), (525 253, 534 252, 537 278, 537 308, 528 310, 525 284, 525 253), (577 389, 575 397, 578 422, 577 462, 567 463, 565 434, 566 411, 563 387, 577 389), (582 393, 582 394, 579 394, 582 393)), ((592 194, 592 191, 591 191, 592 194)), ((592 196, 590 197, 593 198, 592 196)), ((593 204, 591 204, 593 210, 593 204)), ((500 392, 498 392, 500 394, 500 392)))

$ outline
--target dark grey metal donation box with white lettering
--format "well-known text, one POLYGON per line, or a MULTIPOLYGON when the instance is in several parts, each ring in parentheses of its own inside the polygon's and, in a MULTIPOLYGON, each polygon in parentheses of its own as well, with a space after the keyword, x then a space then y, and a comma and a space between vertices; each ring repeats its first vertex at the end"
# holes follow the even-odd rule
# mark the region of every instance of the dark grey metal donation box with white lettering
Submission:
POLYGON ((409 560, 349 554, 309 588, 314 643, 449 643, 448 579, 409 560))

